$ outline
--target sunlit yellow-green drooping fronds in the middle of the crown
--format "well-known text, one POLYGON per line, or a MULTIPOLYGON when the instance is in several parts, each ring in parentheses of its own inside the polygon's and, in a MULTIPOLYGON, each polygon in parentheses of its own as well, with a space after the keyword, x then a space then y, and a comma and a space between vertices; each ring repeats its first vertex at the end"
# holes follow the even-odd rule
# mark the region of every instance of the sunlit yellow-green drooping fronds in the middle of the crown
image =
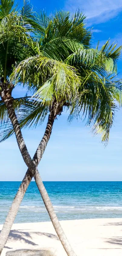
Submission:
POLYGON ((28 83, 30 86, 41 85, 33 97, 43 99, 43 102, 49 105, 54 96, 58 101, 61 98, 70 100, 71 93, 76 94, 80 84, 74 67, 41 55, 22 61, 15 69, 15 75, 17 81, 28 83))

